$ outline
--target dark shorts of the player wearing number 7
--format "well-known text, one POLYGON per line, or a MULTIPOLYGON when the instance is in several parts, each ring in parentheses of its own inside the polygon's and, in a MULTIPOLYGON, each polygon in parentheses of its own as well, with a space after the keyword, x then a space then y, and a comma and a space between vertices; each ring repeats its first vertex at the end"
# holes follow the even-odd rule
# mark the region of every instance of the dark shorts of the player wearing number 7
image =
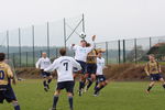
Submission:
POLYGON ((62 81, 62 82, 57 82, 57 88, 56 90, 63 90, 66 89, 67 92, 74 92, 74 86, 75 86, 75 81, 62 81))

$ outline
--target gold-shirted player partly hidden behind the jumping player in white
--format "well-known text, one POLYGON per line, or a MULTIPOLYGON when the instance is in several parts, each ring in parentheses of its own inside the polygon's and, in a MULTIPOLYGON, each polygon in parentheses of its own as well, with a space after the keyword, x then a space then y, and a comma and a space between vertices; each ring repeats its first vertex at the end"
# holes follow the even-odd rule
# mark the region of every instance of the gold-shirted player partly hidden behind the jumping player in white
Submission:
MULTIPOLYGON (((89 47, 90 44, 87 44, 87 47, 89 47)), ((97 53, 98 50, 94 48, 90 53, 87 55, 87 74, 86 74, 86 87, 85 92, 90 88, 92 82, 96 80, 96 72, 97 72, 97 53)))

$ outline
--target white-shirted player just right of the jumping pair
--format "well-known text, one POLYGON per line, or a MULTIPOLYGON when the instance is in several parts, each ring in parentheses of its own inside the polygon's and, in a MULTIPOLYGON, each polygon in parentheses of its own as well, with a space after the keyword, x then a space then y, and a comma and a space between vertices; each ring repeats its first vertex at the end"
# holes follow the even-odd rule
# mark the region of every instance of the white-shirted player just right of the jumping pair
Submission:
POLYGON ((95 88, 95 94, 94 96, 98 96, 99 91, 107 86, 108 80, 106 79, 103 75, 103 69, 106 68, 105 65, 105 58, 102 57, 102 51, 98 53, 97 57, 97 86, 95 88))

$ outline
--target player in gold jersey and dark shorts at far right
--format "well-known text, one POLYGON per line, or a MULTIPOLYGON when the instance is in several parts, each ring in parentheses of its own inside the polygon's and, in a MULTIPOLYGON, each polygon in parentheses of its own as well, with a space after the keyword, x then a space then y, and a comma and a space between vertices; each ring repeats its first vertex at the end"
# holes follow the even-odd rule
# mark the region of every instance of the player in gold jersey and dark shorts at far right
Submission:
POLYGON ((162 69, 161 69, 160 63, 155 59, 155 56, 153 54, 148 55, 148 59, 150 62, 145 65, 145 68, 144 68, 146 75, 151 77, 151 82, 146 90, 147 94, 150 94, 150 90, 155 85, 155 81, 162 81, 163 84, 162 86, 165 89, 165 81, 161 75, 162 69))

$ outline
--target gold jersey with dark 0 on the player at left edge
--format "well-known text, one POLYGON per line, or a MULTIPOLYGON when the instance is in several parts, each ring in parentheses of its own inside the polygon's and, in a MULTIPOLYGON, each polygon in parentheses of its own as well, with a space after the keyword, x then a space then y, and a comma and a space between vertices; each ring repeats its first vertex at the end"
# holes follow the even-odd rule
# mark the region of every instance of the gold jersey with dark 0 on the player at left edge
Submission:
POLYGON ((8 85, 9 79, 13 77, 13 73, 10 66, 3 62, 0 62, 0 85, 8 85))

